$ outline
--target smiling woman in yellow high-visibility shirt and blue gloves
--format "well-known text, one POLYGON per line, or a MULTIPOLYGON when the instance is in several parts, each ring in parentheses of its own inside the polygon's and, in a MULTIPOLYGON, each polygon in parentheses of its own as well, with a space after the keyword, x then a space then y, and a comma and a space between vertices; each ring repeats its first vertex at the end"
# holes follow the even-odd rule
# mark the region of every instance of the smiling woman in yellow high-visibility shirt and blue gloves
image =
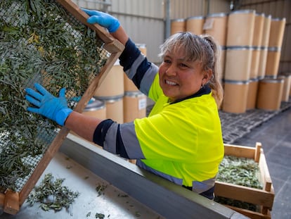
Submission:
POLYGON ((212 37, 189 32, 172 35, 161 46, 162 64, 150 63, 129 39, 119 21, 89 11, 88 23, 106 27, 124 44, 119 57, 124 72, 136 87, 155 101, 147 118, 132 123, 91 118, 67 108, 65 89, 57 98, 36 84, 27 88, 33 113, 60 125, 136 165, 209 199, 224 156, 218 106, 222 89, 217 74, 218 46, 212 37))

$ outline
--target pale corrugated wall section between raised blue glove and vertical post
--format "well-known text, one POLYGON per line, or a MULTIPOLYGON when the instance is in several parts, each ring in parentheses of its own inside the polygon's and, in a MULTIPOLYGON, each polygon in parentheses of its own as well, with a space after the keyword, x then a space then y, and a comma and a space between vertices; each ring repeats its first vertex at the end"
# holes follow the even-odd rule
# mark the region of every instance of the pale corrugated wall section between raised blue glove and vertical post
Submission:
POLYGON ((149 60, 159 62, 157 54, 164 41, 164 1, 112 0, 109 11, 119 19, 134 42, 145 44, 149 60))

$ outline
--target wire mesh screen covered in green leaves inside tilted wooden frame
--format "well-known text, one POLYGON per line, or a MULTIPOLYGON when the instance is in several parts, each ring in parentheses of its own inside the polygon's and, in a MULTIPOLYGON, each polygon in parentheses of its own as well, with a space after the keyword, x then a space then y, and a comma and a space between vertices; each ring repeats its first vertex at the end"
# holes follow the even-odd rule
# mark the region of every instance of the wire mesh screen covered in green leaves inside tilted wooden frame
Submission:
POLYGON ((26 111, 25 87, 39 82, 55 96, 66 87, 75 108, 110 54, 53 0, 0 1, 0 30, 0 192, 19 192, 59 130, 26 111))

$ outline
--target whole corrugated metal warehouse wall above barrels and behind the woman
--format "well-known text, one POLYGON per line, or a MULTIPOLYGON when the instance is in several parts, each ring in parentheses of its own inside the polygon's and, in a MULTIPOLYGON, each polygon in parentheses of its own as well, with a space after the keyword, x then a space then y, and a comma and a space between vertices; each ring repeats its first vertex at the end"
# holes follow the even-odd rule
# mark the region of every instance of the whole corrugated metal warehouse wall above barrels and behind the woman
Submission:
POLYGON ((286 18, 279 72, 291 71, 291 2, 287 0, 74 0, 80 7, 108 11, 120 20, 129 36, 145 44, 150 61, 159 63, 159 46, 170 35, 173 19, 252 9, 271 18, 286 18), (289 42, 288 42, 289 40, 289 42))

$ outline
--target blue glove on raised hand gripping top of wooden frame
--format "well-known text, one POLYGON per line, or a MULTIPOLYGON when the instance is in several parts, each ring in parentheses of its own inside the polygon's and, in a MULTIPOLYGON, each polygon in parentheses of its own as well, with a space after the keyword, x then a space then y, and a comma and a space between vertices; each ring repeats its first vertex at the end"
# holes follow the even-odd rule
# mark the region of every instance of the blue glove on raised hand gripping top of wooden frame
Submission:
POLYGON ((84 8, 82 10, 90 16, 87 19, 87 22, 90 24, 98 23, 98 25, 107 28, 109 32, 115 32, 120 26, 119 20, 108 13, 91 11, 84 8))

